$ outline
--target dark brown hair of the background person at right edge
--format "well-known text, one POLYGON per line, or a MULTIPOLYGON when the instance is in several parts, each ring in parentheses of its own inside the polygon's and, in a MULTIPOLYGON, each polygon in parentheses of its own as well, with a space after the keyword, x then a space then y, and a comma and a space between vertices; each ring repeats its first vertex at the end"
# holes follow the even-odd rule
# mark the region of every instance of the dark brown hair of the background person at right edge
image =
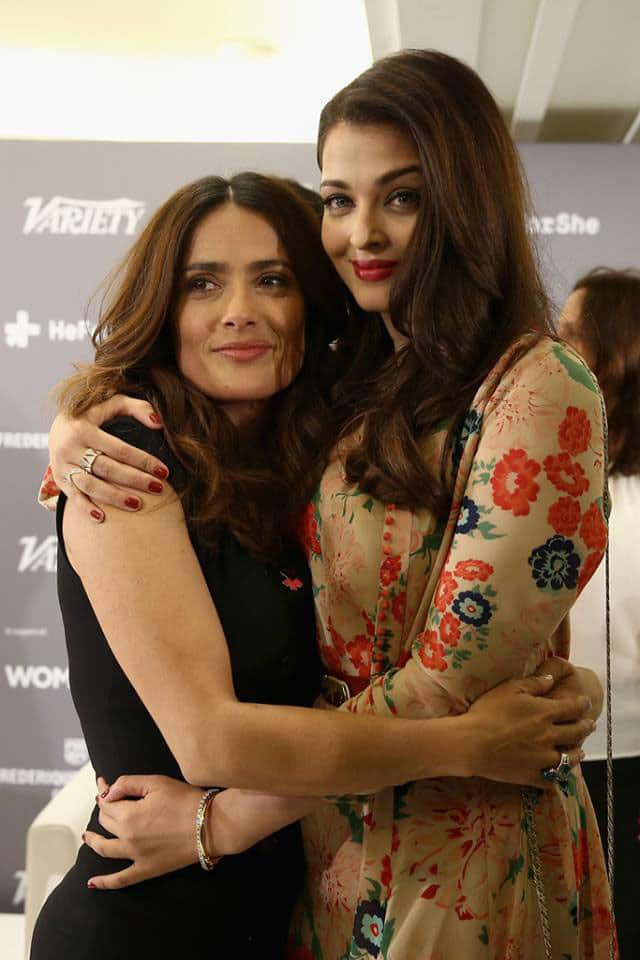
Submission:
POLYGON ((596 267, 573 289, 584 291, 573 333, 604 396, 609 472, 640 473, 640 272, 596 267))

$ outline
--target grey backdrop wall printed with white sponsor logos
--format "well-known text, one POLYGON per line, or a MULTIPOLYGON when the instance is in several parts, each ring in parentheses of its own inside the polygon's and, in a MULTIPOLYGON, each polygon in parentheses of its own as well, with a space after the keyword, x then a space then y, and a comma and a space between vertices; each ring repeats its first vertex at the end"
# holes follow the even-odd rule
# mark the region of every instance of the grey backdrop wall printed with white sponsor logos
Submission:
MULTIPOLYGON (((530 229, 556 303, 593 266, 638 265, 639 151, 523 147, 530 229)), ((11 912, 25 898, 25 831, 87 760, 56 600, 54 518, 36 504, 49 392, 91 356, 91 294, 177 187, 243 169, 309 186, 318 176, 307 144, 5 141, 0 158, 0 912, 11 912)))

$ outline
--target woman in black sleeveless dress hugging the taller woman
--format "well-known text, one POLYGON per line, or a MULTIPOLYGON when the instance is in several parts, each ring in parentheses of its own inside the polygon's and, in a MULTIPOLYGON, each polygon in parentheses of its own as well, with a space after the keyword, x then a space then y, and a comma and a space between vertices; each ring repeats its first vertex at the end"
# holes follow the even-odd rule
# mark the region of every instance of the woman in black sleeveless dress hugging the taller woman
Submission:
MULTIPOLYGON (((297 796, 476 771, 536 780, 556 762, 554 735, 577 743, 589 730, 587 720, 554 734, 552 719, 575 720, 583 705, 552 710, 531 697, 522 709, 515 687, 443 720, 299 709, 314 699, 319 668, 292 518, 330 440, 339 297, 315 214, 289 187, 254 174, 205 178, 151 220, 99 325, 94 364, 63 385, 76 416, 117 391, 151 400, 164 435, 128 418, 108 432, 162 460, 172 483, 150 481, 155 499, 128 494, 132 516, 107 511, 108 523, 90 528, 77 498, 60 497, 60 603, 93 766, 109 782, 135 771, 236 788, 210 804, 205 839, 211 854, 238 855, 209 873, 190 865, 189 850, 170 874, 101 896, 88 883, 105 861, 83 847, 43 907, 32 960, 280 957, 299 836, 284 827, 254 842, 273 833, 265 820, 240 840, 225 832, 232 815, 254 809, 246 791, 293 797, 294 820, 297 796), (505 710, 510 742, 496 759, 505 710)), ((65 482, 71 493, 73 470, 65 482)), ((202 790, 191 796, 193 816, 202 790)), ((274 822, 284 820, 280 806, 274 822)), ((109 837, 97 809, 89 827, 109 837)))

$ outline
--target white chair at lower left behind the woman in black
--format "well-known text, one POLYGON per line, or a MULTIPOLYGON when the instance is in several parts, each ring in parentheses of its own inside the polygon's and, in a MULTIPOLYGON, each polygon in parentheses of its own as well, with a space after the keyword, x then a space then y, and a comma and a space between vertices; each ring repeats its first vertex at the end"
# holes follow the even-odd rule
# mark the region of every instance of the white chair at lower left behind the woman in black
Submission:
POLYGON ((95 803, 96 776, 90 763, 41 810, 27 831, 27 899, 24 949, 29 957, 38 913, 75 862, 95 803))

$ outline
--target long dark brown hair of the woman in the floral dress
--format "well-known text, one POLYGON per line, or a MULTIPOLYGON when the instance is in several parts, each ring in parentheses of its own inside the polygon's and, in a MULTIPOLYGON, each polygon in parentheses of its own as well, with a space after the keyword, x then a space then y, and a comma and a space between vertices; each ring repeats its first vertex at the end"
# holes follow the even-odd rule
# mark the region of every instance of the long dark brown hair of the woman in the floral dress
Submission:
POLYGON ((406 131, 424 174, 415 234, 390 301, 408 347, 393 355, 380 318, 351 305, 362 329, 339 419, 345 432, 361 427, 362 440, 348 455, 347 476, 383 501, 446 515, 448 450, 478 386, 525 332, 551 332, 519 158, 478 75, 431 50, 379 60, 329 101, 320 166, 327 135, 341 122, 406 131), (439 468, 429 468, 420 440, 443 425, 444 454, 439 468))

